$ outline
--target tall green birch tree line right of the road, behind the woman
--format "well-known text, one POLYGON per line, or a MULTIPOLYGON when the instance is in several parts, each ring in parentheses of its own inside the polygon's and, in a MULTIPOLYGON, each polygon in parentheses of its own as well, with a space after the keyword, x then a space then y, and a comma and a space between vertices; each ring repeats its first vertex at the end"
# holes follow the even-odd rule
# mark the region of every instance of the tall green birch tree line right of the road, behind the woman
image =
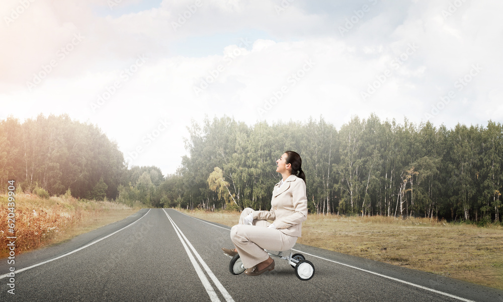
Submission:
POLYGON ((173 180, 177 205, 268 209, 286 150, 303 159, 310 212, 501 221, 503 128, 353 117, 192 123, 173 180))

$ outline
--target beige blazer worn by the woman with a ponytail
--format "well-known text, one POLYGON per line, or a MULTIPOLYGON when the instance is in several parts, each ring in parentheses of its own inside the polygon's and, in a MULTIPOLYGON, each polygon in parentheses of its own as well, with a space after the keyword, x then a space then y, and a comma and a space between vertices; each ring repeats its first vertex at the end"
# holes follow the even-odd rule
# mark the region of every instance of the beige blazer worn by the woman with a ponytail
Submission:
POLYGON ((307 219, 306 184, 290 175, 285 183, 274 186, 271 210, 254 211, 254 219, 274 220, 274 226, 286 235, 301 237, 302 221, 307 219))

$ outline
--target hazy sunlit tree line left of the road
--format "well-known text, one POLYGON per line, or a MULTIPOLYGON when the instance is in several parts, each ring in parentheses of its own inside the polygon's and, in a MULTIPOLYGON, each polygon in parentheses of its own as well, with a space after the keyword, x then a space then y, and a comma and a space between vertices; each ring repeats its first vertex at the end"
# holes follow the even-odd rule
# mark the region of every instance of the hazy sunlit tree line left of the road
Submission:
MULTIPOLYGON (((164 181, 159 168, 128 169, 117 143, 96 125, 68 115, 39 115, 23 123, 13 117, 0 121, 0 188, 4 190, 8 180, 16 180, 18 190, 42 197, 69 192, 76 198, 113 200, 120 188, 130 183, 141 186, 143 173, 150 184, 164 181)), ((143 191, 132 196, 143 201, 146 197, 143 191)))

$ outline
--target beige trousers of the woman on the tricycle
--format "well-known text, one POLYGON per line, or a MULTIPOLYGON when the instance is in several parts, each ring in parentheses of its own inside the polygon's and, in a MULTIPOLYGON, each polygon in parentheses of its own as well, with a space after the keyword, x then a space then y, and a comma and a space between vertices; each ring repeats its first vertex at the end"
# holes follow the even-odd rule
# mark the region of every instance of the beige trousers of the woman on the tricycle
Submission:
POLYGON ((243 218, 250 212, 251 208, 245 208, 239 217, 239 224, 232 226, 230 239, 239 253, 245 268, 255 265, 269 258, 264 249, 269 251, 287 251, 295 245, 297 237, 288 236, 276 229, 268 229, 271 223, 267 220, 253 220, 253 225, 243 223, 243 218))

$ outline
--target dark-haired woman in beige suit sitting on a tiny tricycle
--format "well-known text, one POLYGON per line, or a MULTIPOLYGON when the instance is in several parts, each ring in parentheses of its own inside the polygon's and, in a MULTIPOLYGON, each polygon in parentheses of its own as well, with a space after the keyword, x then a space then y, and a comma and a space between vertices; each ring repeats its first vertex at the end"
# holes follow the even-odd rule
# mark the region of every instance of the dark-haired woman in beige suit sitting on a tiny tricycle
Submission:
POLYGON ((239 224, 232 227, 230 238, 235 249, 222 249, 234 256, 239 253, 244 273, 258 276, 274 269, 274 260, 266 250, 286 251, 301 237, 302 221, 307 219, 306 177, 302 159, 293 151, 276 161, 276 172, 283 178, 274 186, 270 211, 245 208, 239 224), (267 220, 273 220, 273 223, 267 220))

